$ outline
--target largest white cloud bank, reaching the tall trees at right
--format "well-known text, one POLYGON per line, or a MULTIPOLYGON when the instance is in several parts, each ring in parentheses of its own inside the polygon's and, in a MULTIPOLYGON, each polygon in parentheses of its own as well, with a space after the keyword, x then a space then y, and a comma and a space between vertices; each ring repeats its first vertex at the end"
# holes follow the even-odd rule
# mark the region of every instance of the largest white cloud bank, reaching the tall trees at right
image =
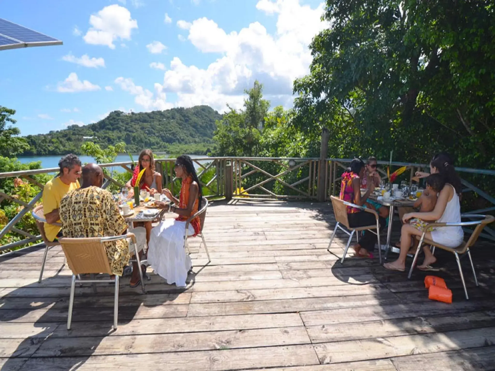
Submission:
MULTIPOLYGON (((258 11, 276 17, 273 33, 259 22, 229 33, 204 17, 192 23, 177 22, 178 27, 189 30, 188 40, 198 50, 218 56, 206 68, 185 65, 178 57, 173 58, 163 83, 155 84, 155 89, 158 86, 159 93, 176 94, 175 106, 208 104, 224 111, 226 104, 242 107, 244 90, 257 79, 264 85, 263 94, 272 106, 291 107, 294 80, 309 73, 312 57, 308 45, 319 31, 329 27, 321 21, 324 2, 313 8, 301 3, 302 0, 258 0, 258 11)), ((181 40, 181 35, 178 38, 181 40)), ((148 93, 150 99, 159 99, 157 93, 148 93)), ((139 103, 137 99, 136 102, 139 103)))

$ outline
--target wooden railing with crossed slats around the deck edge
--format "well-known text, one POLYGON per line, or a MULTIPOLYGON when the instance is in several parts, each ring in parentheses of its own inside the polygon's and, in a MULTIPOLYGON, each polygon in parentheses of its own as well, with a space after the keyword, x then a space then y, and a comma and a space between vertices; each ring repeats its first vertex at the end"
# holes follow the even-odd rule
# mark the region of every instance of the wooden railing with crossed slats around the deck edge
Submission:
MULTIPOLYGON (((226 199, 243 199, 249 197, 251 199, 272 198, 325 201, 330 198, 330 195, 338 194, 340 191, 341 174, 347 168, 351 159, 327 158, 321 163, 322 160, 319 158, 200 157, 194 158, 193 161, 197 166, 198 178, 203 187, 203 193, 207 198, 225 197, 226 199)), ((175 158, 155 160, 156 171, 163 175, 163 186, 170 188, 173 193, 177 194, 179 189, 177 188, 178 183, 173 172, 174 163, 175 158)), ((378 163, 379 165, 389 165, 387 161, 378 161, 378 163)), ((132 172, 130 161, 101 164, 100 166, 105 169, 117 167, 132 172)), ((402 162, 393 162, 392 166, 395 168, 407 166, 406 175, 403 175, 402 178, 408 178, 409 183, 416 171, 422 171, 428 167, 425 164, 402 162)), ((386 170, 384 169, 386 169, 386 166, 378 169, 382 174, 382 178, 386 178, 386 170)), ((490 183, 495 181, 495 178, 492 178, 495 176, 495 171, 493 170, 470 168, 456 168, 456 170, 463 178, 482 175, 491 178, 490 183)), ((15 226, 21 218, 30 213, 41 201, 43 185, 36 181, 33 176, 50 173, 55 176, 58 173, 58 169, 0 173, 0 179, 22 178, 40 190, 29 202, 21 201, 12 194, 0 192, 0 202, 8 199, 21 207, 19 213, 2 228, 0 238, 9 232, 26 237, 1 246, 0 251, 31 244, 41 239, 38 233, 22 231, 15 226)), ((114 188, 123 187, 124 185, 115 180, 112 174, 109 171, 105 172, 105 183, 103 187, 106 188, 110 185, 113 185, 114 188)), ((462 184, 465 186, 463 192, 475 192, 477 197, 481 197, 489 207, 474 210, 474 208, 470 208, 467 205, 468 210, 463 210, 463 212, 479 214, 495 211, 495 198, 482 190, 479 184, 474 185, 473 183, 462 179, 462 184)), ((464 206, 466 208, 466 205, 464 206)), ((495 240, 495 231, 490 228, 485 228, 482 235, 495 240)))

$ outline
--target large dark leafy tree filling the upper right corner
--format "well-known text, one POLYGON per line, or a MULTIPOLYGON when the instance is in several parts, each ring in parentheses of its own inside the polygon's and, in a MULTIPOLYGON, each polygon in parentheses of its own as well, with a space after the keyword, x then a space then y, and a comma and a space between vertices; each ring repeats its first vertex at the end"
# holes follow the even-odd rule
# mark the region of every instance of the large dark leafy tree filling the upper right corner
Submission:
POLYGON ((329 127, 334 147, 345 132, 348 152, 424 162, 446 149, 494 166, 493 0, 328 0, 324 18, 294 84, 296 125, 329 127))

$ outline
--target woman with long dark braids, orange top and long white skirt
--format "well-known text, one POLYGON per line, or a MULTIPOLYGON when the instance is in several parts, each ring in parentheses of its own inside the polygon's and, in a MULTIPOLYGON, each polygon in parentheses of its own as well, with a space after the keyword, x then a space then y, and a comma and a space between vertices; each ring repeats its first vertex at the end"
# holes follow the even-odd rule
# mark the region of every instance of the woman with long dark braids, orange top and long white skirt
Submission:
MULTIPOLYGON (((182 155, 175 162, 175 175, 182 179, 181 193, 175 198, 170 190, 164 189, 163 193, 174 202, 171 206, 164 202, 156 202, 157 207, 179 215, 176 219, 168 219, 161 222, 151 230, 148 248, 148 263, 153 270, 165 278, 168 284, 186 286, 188 272, 192 268, 192 262, 184 248, 184 234, 186 221, 201 208, 201 185, 196 175, 196 170, 191 157, 182 155)), ((196 235, 200 232, 199 218, 196 217, 188 226, 188 235, 196 235)))

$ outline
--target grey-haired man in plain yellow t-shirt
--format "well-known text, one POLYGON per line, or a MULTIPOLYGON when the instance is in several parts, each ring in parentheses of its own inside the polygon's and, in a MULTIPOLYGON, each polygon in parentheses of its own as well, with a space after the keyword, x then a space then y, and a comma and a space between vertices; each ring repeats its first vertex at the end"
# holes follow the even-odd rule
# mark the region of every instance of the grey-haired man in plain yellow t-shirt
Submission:
POLYGON ((45 214, 45 234, 53 241, 60 232, 60 227, 52 223, 60 223, 60 200, 69 191, 79 188, 81 177, 81 161, 76 155, 68 154, 58 161, 60 172, 58 177, 49 181, 43 188, 43 213, 45 214))

